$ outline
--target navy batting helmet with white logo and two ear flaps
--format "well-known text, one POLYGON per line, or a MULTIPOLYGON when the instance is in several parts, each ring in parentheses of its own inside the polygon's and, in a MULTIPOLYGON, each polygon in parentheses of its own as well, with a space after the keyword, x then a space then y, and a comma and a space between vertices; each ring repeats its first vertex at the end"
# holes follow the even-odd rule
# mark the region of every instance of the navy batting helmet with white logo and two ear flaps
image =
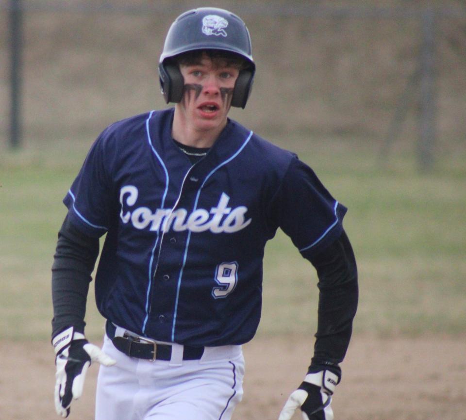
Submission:
POLYGON ((168 30, 159 61, 160 86, 166 102, 180 102, 183 97, 183 76, 170 59, 202 49, 232 52, 247 62, 235 82, 232 98, 232 106, 244 108, 255 72, 250 34, 240 17, 214 7, 189 10, 178 16, 168 30))

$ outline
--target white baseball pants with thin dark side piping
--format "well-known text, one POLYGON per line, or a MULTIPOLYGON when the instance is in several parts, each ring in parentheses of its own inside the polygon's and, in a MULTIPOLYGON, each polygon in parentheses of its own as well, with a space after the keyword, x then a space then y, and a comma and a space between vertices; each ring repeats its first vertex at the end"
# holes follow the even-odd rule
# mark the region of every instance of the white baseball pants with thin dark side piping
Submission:
POLYGON ((174 344, 170 361, 124 355, 105 336, 103 351, 116 365, 100 366, 96 420, 230 420, 243 396, 241 346, 206 347, 184 360, 174 344))

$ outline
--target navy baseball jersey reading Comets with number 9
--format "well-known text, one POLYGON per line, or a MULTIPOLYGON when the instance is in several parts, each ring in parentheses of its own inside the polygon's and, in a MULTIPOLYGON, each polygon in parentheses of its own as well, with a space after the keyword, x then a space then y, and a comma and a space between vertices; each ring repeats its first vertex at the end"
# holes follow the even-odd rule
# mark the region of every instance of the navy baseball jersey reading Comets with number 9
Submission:
POLYGON ((278 227, 305 258, 342 232, 346 208, 297 156, 229 120, 194 165, 171 137, 173 109, 112 124, 64 203, 106 233, 100 313, 136 334, 192 346, 255 334, 266 242, 278 227))

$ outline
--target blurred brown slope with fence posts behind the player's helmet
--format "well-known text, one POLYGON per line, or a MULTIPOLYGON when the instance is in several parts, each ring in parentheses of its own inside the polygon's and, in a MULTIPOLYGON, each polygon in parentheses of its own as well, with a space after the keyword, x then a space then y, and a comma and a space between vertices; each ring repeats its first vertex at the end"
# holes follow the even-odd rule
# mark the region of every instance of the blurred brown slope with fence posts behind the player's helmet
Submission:
MULTIPOLYGON (((279 139, 344 138, 417 150, 421 166, 466 138, 466 7, 460 1, 217 1, 250 28, 257 76, 237 118, 279 139)), ((4 147, 93 139, 166 104, 157 65, 195 1, 0 3, 4 147)))

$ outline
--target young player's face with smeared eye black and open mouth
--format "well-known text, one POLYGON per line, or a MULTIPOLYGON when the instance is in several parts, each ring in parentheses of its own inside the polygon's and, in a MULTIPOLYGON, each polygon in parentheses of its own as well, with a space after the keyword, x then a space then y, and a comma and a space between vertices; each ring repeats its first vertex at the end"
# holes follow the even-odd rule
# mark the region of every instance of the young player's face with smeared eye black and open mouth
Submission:
POLYGON ((198 131, 223 129, 239 69, 204 54, 196 64, 180 65, 180 70, 184 93, 177 106, 183 124, 198 131))

